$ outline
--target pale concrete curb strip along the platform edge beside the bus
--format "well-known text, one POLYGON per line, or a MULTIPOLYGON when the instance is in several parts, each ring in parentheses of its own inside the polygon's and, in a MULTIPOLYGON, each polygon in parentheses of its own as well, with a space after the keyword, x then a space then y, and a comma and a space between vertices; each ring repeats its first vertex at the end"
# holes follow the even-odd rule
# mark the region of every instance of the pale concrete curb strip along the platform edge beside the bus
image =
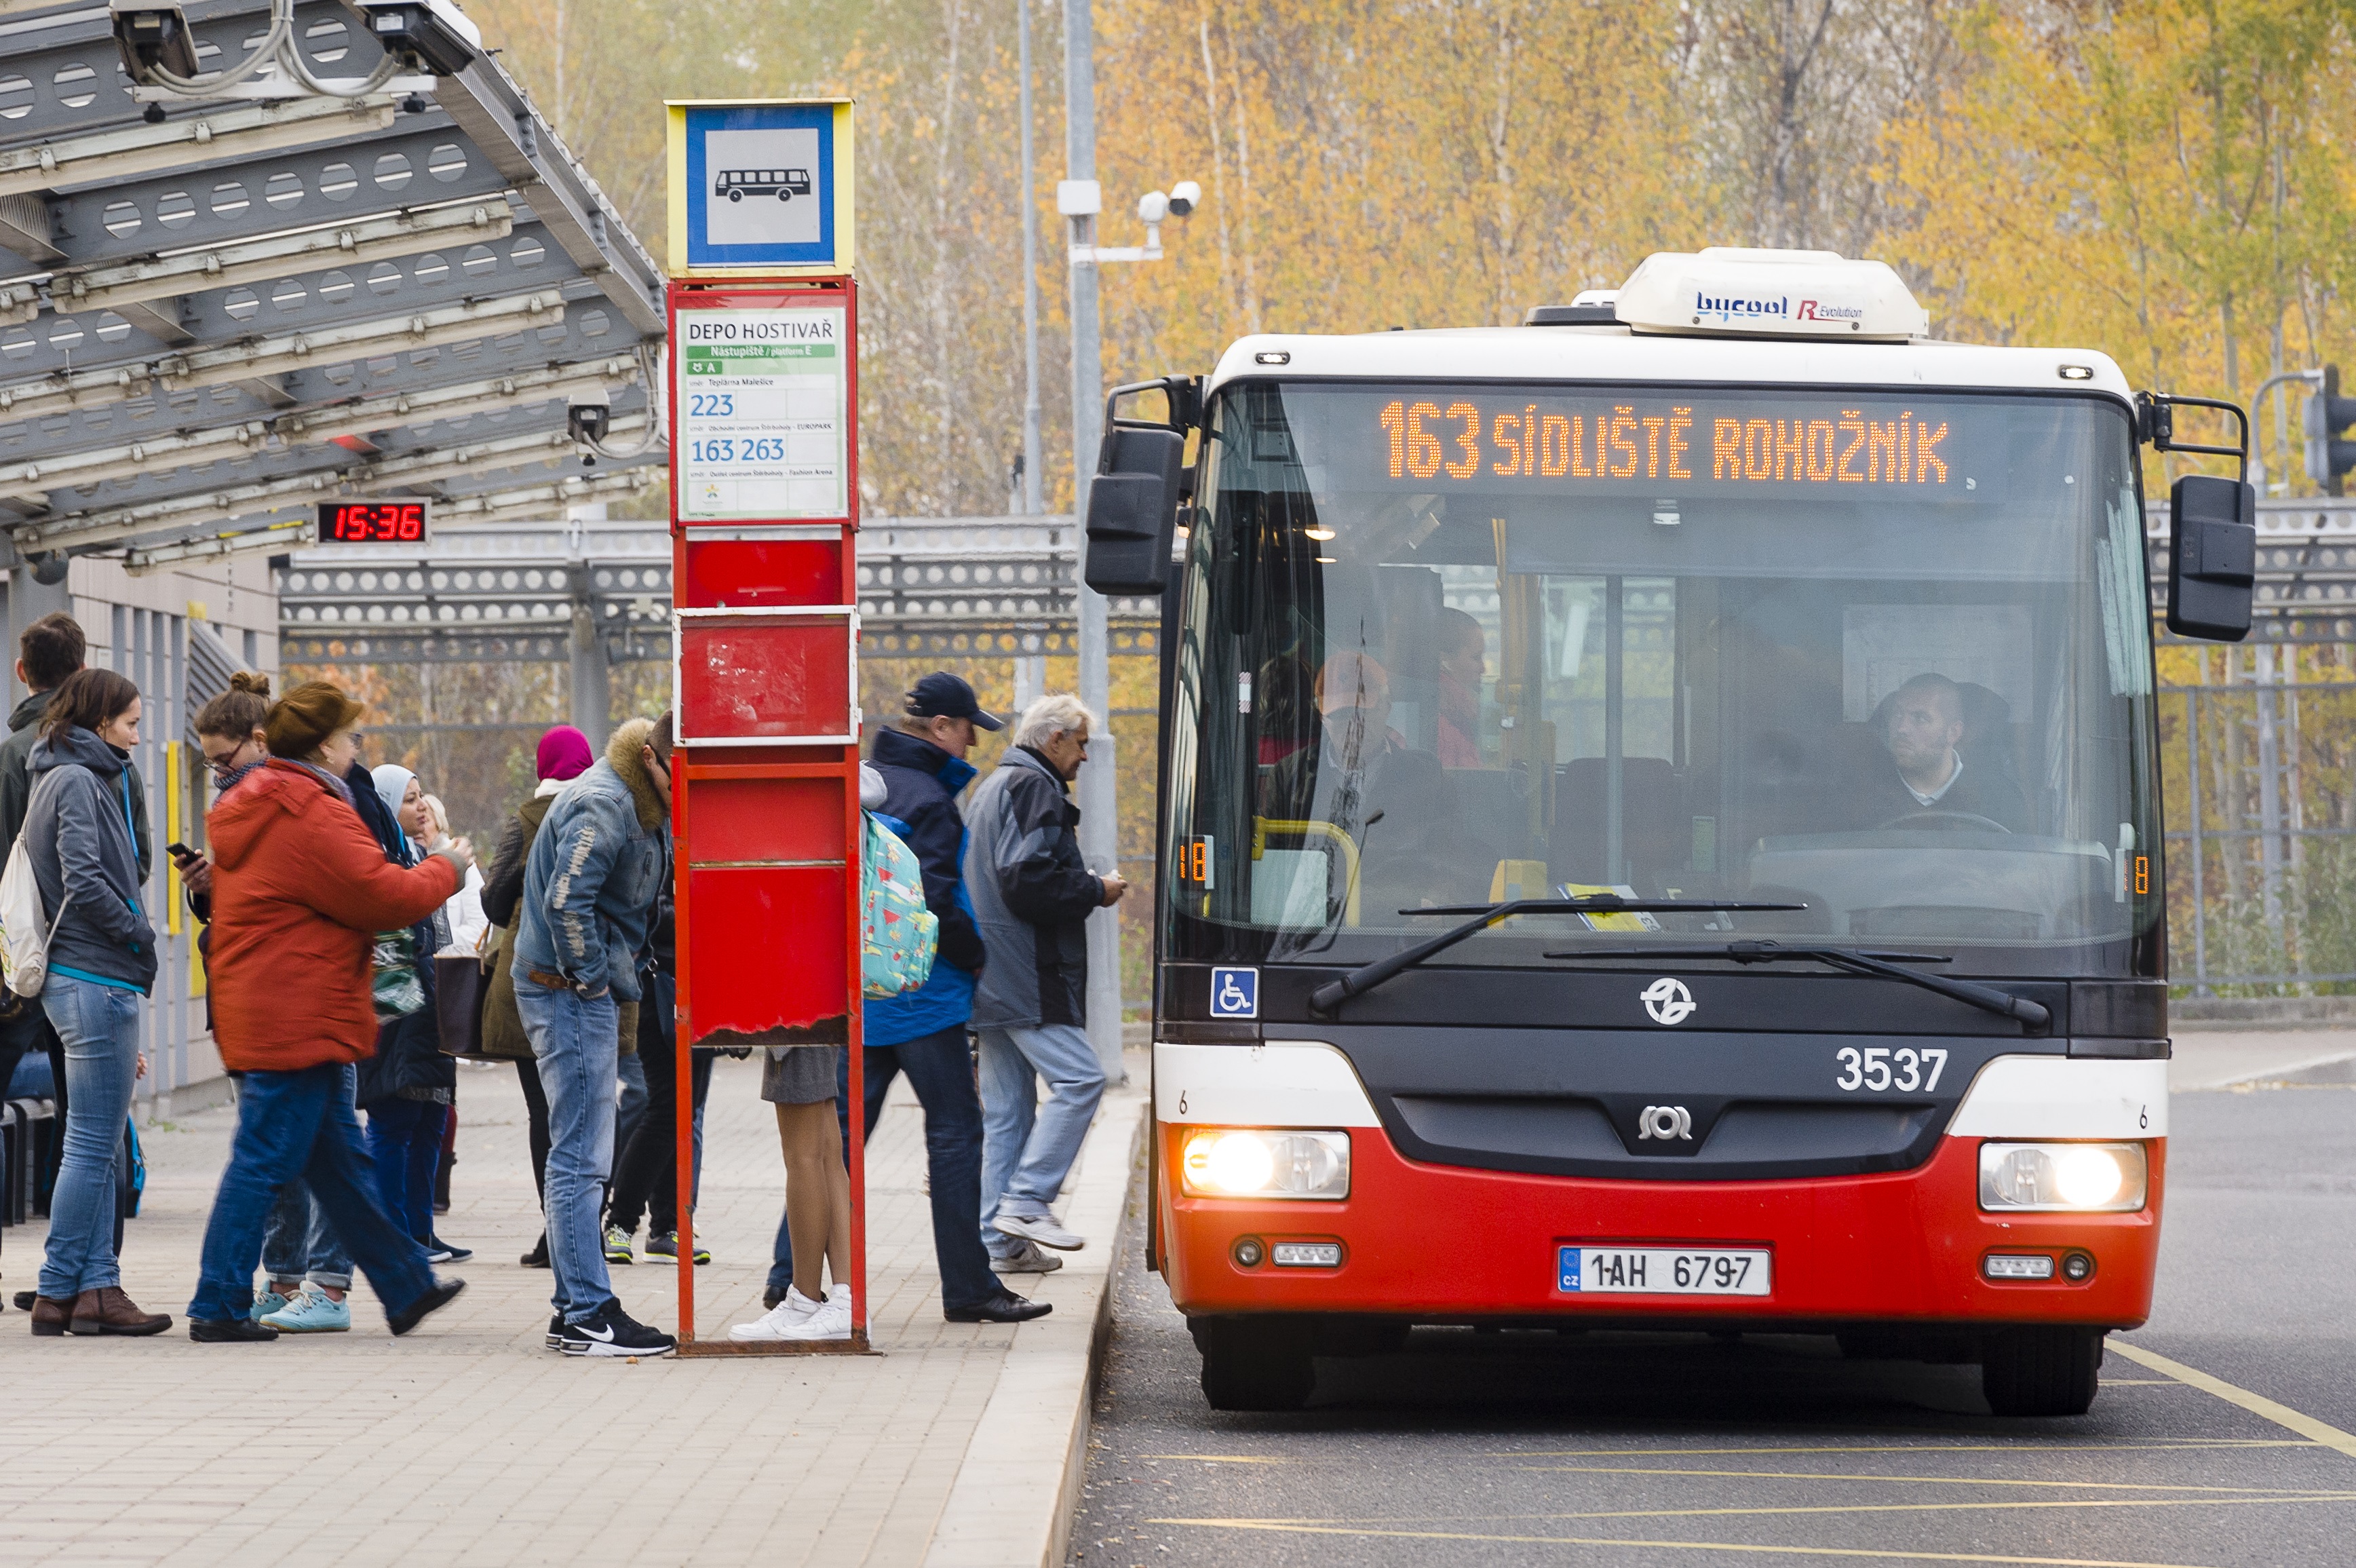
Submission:
POLYGON ((1121 1217, 1136 1191, 1143 1139, 1145 1094, 1107 1094, 1065 1203, 1065 1224, 1103 1247, 1065 1254, 1065 1266, 1030 1292, 1055 1311, 1015 1330, 940 1507, 926 1568, 1063 1563, 1088 1462, 1096 1368, 1112 1330, 1121 1217))

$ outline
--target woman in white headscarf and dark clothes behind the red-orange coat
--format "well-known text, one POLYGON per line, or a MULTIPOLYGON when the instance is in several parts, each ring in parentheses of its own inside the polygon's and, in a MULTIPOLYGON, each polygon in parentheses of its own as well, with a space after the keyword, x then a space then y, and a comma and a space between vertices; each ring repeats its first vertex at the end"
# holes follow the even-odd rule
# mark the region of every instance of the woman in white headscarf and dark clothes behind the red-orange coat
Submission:
MULTIPOLYGON (((417 865, 441 846, 417 773, 386 762, 370 771, 370 783, 403 835, 389 861, 417 865)), ((382 997, 410 1007, 377 1026, 377 1054, 360 1063, 358 1094, 360 1111, 368 1111, 368 1155, 377 1165, 384 1207, 436 1264, 474 1257, 434 1236, 434 1170, 441 1165, 443 1118, 457 1089, 457 1061, 443 1056, 434 1012, 434 955, 445 946, 441 927, 436 908, 405 931, 377 936, 379 976, 386 981, 379 986, 379 1016, 386 1004, 382 997), (415 979, 401 974, 403 962, 415 979)))

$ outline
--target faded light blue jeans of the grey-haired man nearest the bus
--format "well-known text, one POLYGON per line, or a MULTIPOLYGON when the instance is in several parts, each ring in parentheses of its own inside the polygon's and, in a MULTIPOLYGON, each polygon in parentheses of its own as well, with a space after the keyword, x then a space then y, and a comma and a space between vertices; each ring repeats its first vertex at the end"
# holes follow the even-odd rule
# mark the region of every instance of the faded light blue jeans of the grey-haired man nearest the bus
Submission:
MULTIPOLYGON (((1072 1160, 1088 1139, 1096 1101, 1105 1096, 1105 1068, 1077 1023, 1037 1028, 985 1028, 982 1078, 982 1219, 992 1214, 1048 1214, 1072 1160), (1048 1101, 1039 1106, 1039 1080, 1048 1101)), ((1004 1231, 982 1226, 982 1245, 997 1257, 1023 1247, 1004 1231)))

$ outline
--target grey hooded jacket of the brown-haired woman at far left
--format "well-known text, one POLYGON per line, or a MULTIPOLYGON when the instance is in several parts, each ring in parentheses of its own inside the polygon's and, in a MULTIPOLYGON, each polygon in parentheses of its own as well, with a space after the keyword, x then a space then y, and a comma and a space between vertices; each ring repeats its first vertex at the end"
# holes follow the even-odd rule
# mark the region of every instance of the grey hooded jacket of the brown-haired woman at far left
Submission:
POLYGON ((155 983, 155 929, 139 913, 130 762, 97 731, 66 726, 33 743, 33 802, 24 846, 33 856, 49 936, 49 971, 146 990, 155 983), (66 894, 73 903, 59 917, 66 894))

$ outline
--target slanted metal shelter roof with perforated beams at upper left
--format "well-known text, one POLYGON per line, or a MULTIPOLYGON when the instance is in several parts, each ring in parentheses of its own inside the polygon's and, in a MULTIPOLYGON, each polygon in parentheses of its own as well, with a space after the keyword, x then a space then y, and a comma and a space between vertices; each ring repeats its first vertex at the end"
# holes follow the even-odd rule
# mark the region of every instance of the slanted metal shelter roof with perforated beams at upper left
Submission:
POLYGON ((141 571, 287 552, 339 498, 426 495, 441 526, 653 481, 662 274, 488 50, 389 75, 342 0, 179 14, 203 71, 285 42, 188 97, 134 83, 108 5, 0 0, 19 554, 141 571), (610 410, 596 446, 575 406, 610 410))

